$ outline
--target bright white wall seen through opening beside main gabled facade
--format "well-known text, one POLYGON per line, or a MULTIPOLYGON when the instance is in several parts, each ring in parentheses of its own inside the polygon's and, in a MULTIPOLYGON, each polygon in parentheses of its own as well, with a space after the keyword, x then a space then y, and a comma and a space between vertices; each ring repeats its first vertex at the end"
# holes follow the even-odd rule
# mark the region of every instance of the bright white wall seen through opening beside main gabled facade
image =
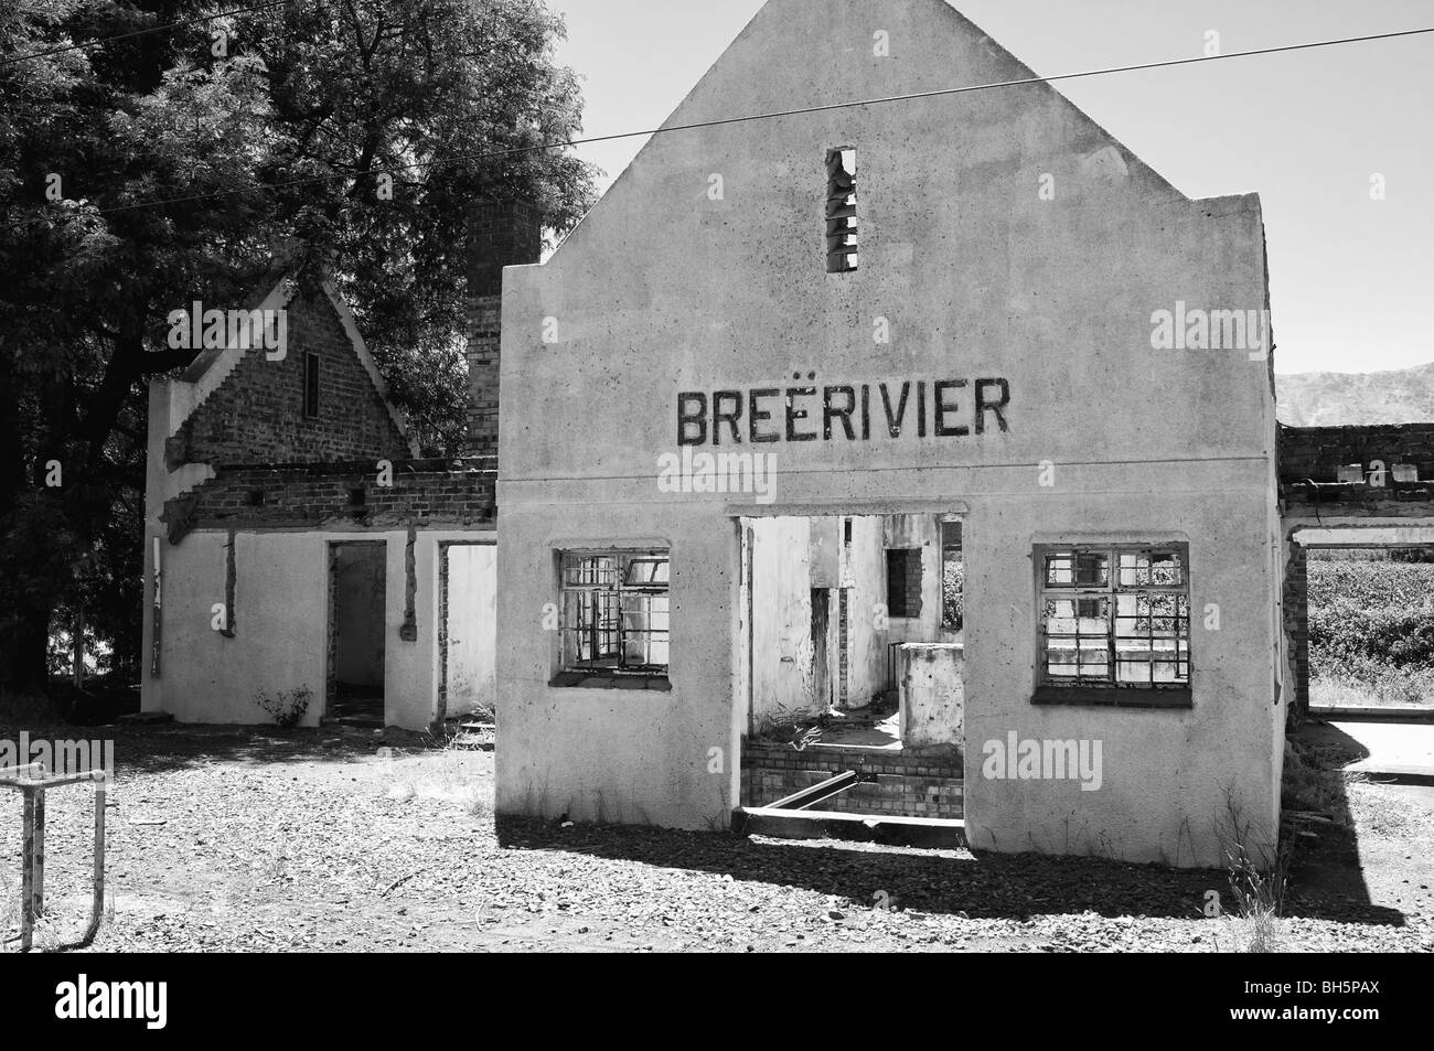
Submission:
POLYGON ((455 543, 446 551, 446 711, 463 715, 498 703, 498 548, 455 543))

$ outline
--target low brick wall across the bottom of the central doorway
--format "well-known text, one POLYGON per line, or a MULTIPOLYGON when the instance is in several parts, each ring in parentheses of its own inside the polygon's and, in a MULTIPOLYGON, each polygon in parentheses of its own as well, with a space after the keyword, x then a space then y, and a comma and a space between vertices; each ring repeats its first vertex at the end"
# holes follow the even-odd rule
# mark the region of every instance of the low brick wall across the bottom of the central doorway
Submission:
POLYGON ((746 744, 741 756, 743 806, 770 806, 784 796, 846 770, 876 777, 840 791, 817 810, 872 816, 959 819, 962 766, 951 754, 856 751, 820 744, 797 751, 789 744, 746 744))

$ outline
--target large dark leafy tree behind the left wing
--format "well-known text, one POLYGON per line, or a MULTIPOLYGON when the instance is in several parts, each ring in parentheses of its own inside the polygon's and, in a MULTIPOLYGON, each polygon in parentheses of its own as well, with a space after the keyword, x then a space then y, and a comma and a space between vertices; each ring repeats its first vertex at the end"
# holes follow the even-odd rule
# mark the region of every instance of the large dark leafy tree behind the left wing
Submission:
POLYGON ((531 201, 561 234, 592 199, 587 165, 536 149, 581 126, 541 0, 174 24, 212 10, 0 10, 0 688, 43 687, 57 605, 138 661, 145 387, 194 353, 166 346, 171 310, 324 252, 420 442, 453 453, 473 202, 531 201))

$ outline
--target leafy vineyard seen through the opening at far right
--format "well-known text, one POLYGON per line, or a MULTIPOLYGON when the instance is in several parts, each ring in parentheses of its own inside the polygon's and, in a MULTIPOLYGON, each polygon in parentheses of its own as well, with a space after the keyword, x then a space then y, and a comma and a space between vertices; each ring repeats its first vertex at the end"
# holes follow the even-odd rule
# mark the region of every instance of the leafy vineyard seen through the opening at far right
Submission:
POLYGON ((1434 558, 1309 552, 1309 703, 1434 705, 1434 558))

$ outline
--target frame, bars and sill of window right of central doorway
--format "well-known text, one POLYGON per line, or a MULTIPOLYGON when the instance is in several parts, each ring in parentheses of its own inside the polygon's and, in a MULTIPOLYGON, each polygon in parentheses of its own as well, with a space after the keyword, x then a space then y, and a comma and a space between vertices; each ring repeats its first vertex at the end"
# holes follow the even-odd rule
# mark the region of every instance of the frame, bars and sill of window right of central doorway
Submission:
MULTIPOLYGON (((1195 654, 1193 654, 1193 598, 1192 598, 1192 584, 1190 584, 1190 545, 1186 541, 1153 541, 1153 542, 1130 542, 1130 541, 1077 541, 1071 543, 1040 543, 1035 545, 1032 552, 1034 562, 1034 596, 1035 596, 1035 690, 1031 697, 1032 704, 1093 704, 1093 705, 1111 705, 1111 707, 1141 707, 1141 708, 1189 708, 1192 704, 1192 685, 1195 681, 1195 654), (1048 558, 1051 555, 1070 553, 1073 556, 1073 579, 1070 584, 1051 585, 1047 581, 1048 558), (1176 555, 1180 561, 1182 581, 1180 584, 1121 584, 1121 555, 1176 555), (1106 578, 1104 582, 1081 582, 1078 579, 1078 559, 1081 555, 1104 555, 1106 562, 1106 578), (1146 655, 1146 664, 1150 670, 1149 681, 1121 681, 1120 680, 1120 648, 1119 639, 1131 638, 1131 635, 1120 634, 1120 595, 1174 595, 1177 596, 1177 609, 1173 614, 1174 625, 1174 652, 1173 661, 1164 661, 1166 664, 1174 664, 1176 674, 1180 674, 1183 668, 1183 678, 1176 681, 1157 683, 1153 681, 1154 670, 1157 661, 1154 660, 1154 650, 1146 655), (1179 612, 1179 598, 1184 599, 1183 617, 1179 612), (1081 677, 1078 670, 1081 661, 1078 660, 1080 644, 1077 641, 1077 675, 1061 675, 1053 677, 1050 674, 1050 658, 1048 658, 1048 634, 1047 634, 1047 601, 1053 598, 1064 598, 1067 601, 1080 599, 1100 599, 1108 604, 1108 611, 1103 615, 1106 619, 1106 667, 1108 668, 1110 678, 1088 678, 1081 677), (1183 632, 1180 628, 1180 621, 1183 619, 1183 632), (1182 650, 1183 642, 1183 650, 1182 650)), ((1137 614, 1139 615, 1139 614, 1137 614)), ((1156 614, 1152 614, 1152 618, 1156 614)), ((1077 632, 1077 639, 1081 635, 1077 632)), ((1147 638, 1156 641, 1156 635, 1152 632, 1147 638)))

